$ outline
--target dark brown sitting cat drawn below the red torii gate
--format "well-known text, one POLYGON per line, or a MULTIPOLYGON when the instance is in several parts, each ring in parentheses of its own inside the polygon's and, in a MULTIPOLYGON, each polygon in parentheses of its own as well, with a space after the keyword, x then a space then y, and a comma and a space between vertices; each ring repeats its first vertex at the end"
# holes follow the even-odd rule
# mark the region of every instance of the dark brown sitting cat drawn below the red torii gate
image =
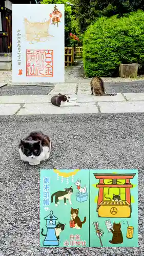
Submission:
POLYGON ((111 244, 122 244, 123 236, 120 228, 120 223, 116 224, 115 222, 113 223, 113 230, 110 228, 111 232, 113 233, 112 240, 109 241, 111 244))

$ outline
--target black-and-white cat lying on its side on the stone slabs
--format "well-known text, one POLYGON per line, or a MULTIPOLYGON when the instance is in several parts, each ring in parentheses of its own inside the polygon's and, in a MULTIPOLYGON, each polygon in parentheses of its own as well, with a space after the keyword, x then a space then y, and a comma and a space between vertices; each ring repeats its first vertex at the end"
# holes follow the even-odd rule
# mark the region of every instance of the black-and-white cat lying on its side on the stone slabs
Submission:
POLYGON ((76 102, 76 99, 66 96, 66 94, 58 93, 51 97, 51 103, 55 106, 79 106, 76 102))

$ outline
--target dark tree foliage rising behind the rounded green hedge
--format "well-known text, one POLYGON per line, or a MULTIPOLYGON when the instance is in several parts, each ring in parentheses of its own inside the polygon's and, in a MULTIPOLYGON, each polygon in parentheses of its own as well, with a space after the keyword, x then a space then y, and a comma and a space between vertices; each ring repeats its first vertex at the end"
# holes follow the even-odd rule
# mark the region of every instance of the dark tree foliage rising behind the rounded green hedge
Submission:
POLYGON ((144 9, 144 0, 71 0, 81 32, 98 17, 113 15, 123 16, 126 13, 144 9))

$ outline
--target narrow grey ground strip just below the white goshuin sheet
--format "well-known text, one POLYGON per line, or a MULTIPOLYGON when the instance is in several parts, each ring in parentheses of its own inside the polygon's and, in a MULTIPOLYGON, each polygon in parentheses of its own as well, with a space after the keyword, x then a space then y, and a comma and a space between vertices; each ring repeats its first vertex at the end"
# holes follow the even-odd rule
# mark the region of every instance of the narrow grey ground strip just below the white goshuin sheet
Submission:
MULTIPOLYGON (((1 95, 47 95, 54 88, 44 86, 4 86, 0 88, 1 95)), ((0 255, 1 256, 1 255, 0 255)))

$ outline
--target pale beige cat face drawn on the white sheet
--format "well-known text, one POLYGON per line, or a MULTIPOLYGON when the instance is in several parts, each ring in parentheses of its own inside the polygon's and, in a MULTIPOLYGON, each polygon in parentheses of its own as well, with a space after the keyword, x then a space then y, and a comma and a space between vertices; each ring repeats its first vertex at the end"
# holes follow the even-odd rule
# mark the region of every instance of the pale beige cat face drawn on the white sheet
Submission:
POLYGON ((24 18, 25 23, 25 33, 26 40, 29 44, 34 44, 35 42, 44 42, 49 40, 50 35, 48 30, 51 23, 51 19, 46 22, 30 22, 27 18, 24 18))

